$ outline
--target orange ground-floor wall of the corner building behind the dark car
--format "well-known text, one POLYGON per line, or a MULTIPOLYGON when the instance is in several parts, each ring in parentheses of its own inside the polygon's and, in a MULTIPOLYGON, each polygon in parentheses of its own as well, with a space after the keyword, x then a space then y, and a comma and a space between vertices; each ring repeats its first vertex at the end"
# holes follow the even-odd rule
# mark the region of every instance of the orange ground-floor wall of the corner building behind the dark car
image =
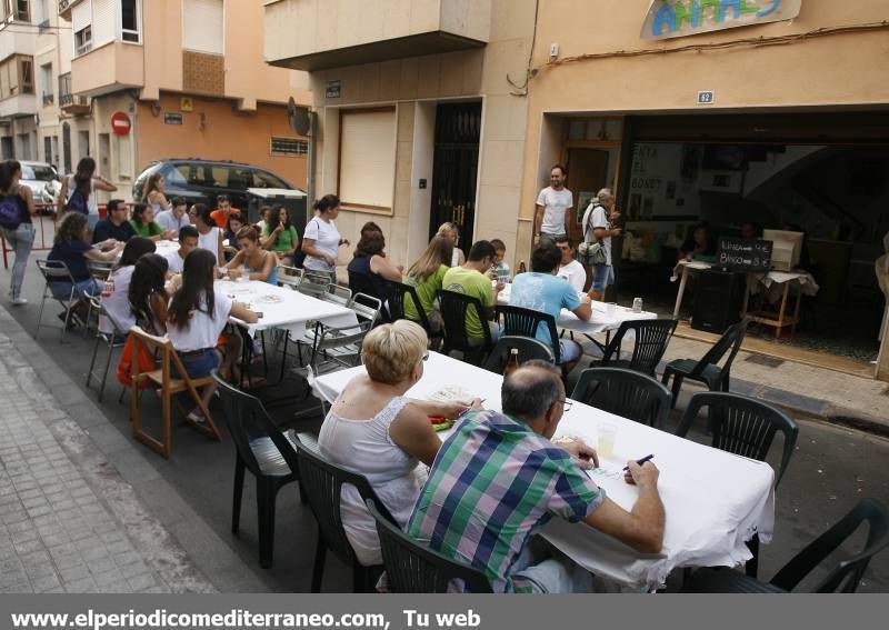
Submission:
POLYGON ((138 171, 150 161, 163 158, 234 160, 266 167, 291 184, 306 188, 304 157, 272 157, 270 138, 296 138, 288 126, 287 108, 260 103, 257 111, 234 112, 232 103, 193 99, 194 109, 181 112, 178 96, 163 94, 158 116, 146 102, 137 112, 138 171), (166 124, 164 112, 181 112, 182 124, 166 124), (207 128, 200 128, 201 114, 207 128))

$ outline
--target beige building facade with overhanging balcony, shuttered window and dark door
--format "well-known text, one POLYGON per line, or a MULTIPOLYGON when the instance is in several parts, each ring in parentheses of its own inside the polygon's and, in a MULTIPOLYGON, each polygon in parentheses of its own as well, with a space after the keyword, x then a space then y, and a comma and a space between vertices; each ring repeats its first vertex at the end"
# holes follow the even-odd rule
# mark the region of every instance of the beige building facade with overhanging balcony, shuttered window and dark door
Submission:
MULTIPOLYGON (((269 63, 309 73, 318 196, 409 266, 444 221, 517 241, 533 0, 266 2, 269 63)), ((348 262, 348 257, 346 262, 348 262)))

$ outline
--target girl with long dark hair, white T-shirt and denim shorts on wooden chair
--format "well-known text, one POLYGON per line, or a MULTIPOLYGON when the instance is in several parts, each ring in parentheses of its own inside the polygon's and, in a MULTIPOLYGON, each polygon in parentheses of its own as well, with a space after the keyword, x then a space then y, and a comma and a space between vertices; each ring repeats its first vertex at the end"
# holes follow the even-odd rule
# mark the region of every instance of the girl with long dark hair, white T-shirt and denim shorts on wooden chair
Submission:
MULTIPOLYGON (((217 347, 219 336, 229 317, 247 323, 257 321, 257 313, 213 287, 216 277, 217 258, 211 252, 199 248, 189 253, 182 268, 182 286, 173 293, 167 312, 167 336, 179 352, 188 376, 193 379, 207 377, 216 368, 223 378, 234 376, 237 379, 240 337, 228 336, 231 343, 223 350, 217 347)), ((216 383, 203 388, 204 407, 210 403, 214 389, 216 383)), ((206 422, 200 408, 194 408, 189 419, 206 422)))

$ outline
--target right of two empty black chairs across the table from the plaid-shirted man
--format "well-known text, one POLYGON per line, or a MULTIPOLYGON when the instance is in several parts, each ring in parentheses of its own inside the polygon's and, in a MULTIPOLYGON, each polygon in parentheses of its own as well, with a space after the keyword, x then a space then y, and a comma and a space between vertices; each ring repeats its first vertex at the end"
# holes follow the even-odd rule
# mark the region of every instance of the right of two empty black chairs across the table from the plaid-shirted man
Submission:
MULTIPOLYGON (((752 398, 728 392, 703 392, 691 397, 676 434, 685 438, 691 423, 705 407, 708 411, 708 426, 713 434, 712 447, 716 449, 766 461, 775 434, 778 431, 783 433, 783 453, 775 478, 777 488, 797 446, 799 437, 797 423, 786 413, 752 398)), ((747 546, 753 553, 753 558, 747 561, 747 574, 756 577, 759 564, 759 537, 753 536, 747 546)))

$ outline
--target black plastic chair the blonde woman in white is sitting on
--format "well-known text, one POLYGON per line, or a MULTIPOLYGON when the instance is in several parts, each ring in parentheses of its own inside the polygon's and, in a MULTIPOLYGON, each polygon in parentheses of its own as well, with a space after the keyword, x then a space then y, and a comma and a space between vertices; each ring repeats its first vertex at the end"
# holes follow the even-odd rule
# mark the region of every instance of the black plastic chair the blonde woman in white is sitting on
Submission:
POLYGON ((327 551, 352 568, 354 592, 372 592, 382 567, 364 567, 359 561, 346 537, 340 512, 340 491, 344 483, 354 486, 361 499, 373 501, 379 506, 383 518, 396 522, 392 516, 377 498, 370 482, 362 474, 350 472, 328 461, 320 453, 297 444, 299 452, 299 477, 309 507, 318 522, 318 546, 314 550, 312 568, 312 592, 321 592, 321 578, 324 572, 327 551))

